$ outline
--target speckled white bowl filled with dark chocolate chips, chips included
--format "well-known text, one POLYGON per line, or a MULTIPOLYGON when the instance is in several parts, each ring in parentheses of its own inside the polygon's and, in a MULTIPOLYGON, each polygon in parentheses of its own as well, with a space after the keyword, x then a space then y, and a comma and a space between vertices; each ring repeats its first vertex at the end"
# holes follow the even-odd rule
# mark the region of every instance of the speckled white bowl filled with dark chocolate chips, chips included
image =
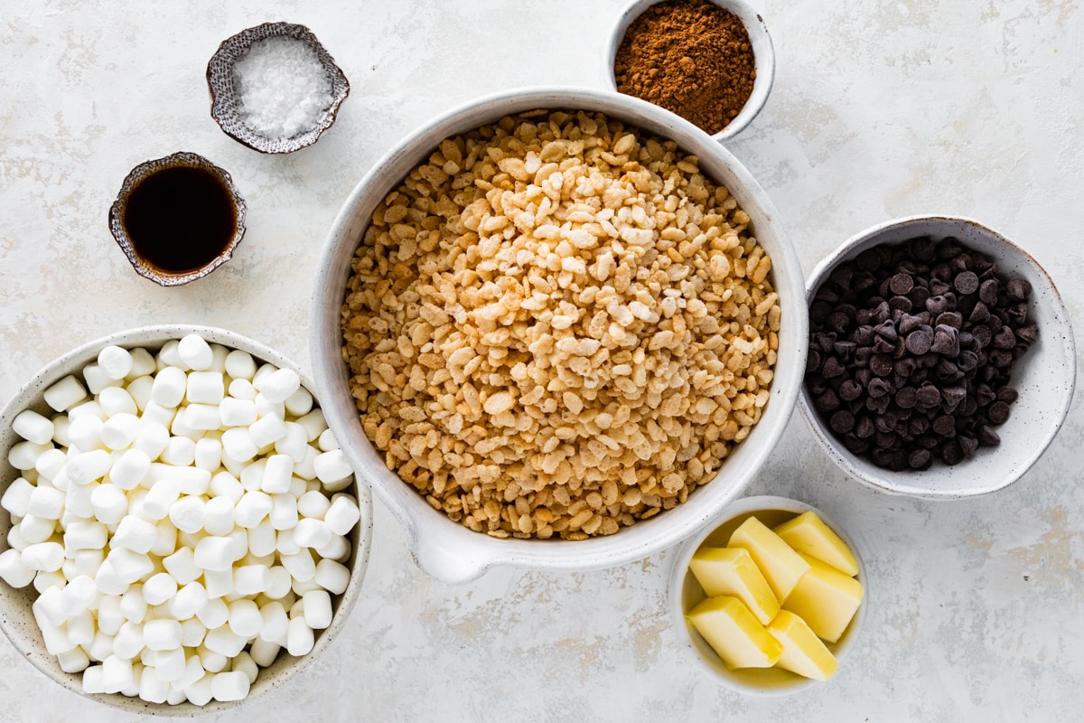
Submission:
POLYGON ((959 499, 1023 475, 1064 421, 1069 314, 1019 246, 971 219, 875 225, 808 285, 799 409, 839 466, 885 492, 959 499))

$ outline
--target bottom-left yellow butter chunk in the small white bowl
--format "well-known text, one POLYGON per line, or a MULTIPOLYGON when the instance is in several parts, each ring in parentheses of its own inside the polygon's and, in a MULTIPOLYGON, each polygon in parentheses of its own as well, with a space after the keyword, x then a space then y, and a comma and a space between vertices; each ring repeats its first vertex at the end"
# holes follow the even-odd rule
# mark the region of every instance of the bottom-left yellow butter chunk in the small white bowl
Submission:
POLYGON ((731 670, 771 668, 783 654, 778 641, 737 597, 708 597, 686 617, 731 670))

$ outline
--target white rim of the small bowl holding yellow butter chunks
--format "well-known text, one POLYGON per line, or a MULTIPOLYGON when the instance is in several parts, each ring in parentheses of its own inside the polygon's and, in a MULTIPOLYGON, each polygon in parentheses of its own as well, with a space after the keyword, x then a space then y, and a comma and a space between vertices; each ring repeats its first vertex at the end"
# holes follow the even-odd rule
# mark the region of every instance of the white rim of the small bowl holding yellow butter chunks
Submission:
MULTIPOLYGON (((820 517, 833 532, 839 535, 839 538, 850 548, 851 553, 854 554, 854 558, 859 564, 859 573, 854 577, 862 583, 863 586, 862 603, 859 605, 859 609, 855 612, 854 618, 847 627, 847 630, 839 638, 839 642, 831 644, 826 643, 829 649, 833 649, 833 655, 839 662, 839 667, 842 668, 843 661, 853 655, 854 648, 857 647, 862 640, 862 631, 865 628, 867 610, 869 609, 870 585, 864 560, 864 545, 856 542, 856 539, 849 534, 847 530, 844 530, 833 517, 829 517, 820 508, 814 507, 806 502, 802 502, 801 500, 765 494, 741 498, 723 508, 715 519, 679 547, 678 553, 674 556, 672 567, 670 568, 670 577, 667 585, 667 599, 670 620, 679 630, 678 635, 681 638, 680 645, 683 648, 686 648, 688 650, 688 655, 696 659, 700 670, 710 673, 713 679, 738 693, 757 697, 780 697, 802 693, 811 688, 816 688, 817 686, 830 685, 833 680, 835 680, 835 675, 826 682, 821 682, 810 677, 803 677, 798 673, 782 671, 783 673, 786 673, 785 677, 790 682, 776 684, 771 687, 757 686, 751 683, 747 683, 740 680, 738 675, 735 675, 733 671, 726 670, 721 661, 717 666, 705 658, 704 654, 698 649, 697 643, 695 643, 695 638, 700 638, 700 635, 687 622, 685 618, 684 602, 682 599, 686 578, 692 574, 688 569, 689 561, 693 559, 693 555, 700 547, 700 545, 702 545, 704 542, 717 530, 726 526, 732 520, 738 517, 751 517, 757 513, 765 512, 784 512, 792 514, 796 517, 806 512, 815 513, 816 516, 820 517), (684 633, 681 631, 684 631, 684 633)), ((700 640, 702 641, 702 638, 700 640)), ((702 643, 702 647, 708 647, 707 642, 702 643)))

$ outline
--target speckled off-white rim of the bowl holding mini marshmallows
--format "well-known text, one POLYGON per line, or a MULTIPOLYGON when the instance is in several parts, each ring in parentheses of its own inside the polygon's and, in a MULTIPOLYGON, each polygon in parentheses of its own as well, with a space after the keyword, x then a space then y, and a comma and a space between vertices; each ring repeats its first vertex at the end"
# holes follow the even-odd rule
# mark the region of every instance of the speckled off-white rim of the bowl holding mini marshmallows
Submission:
MULTIPOLYGON (((0 449, 8 449, 8 440, 18 439, 11 429, 11 422, 15 415, 23 410, 28 409, 35 400, 40 400, 44 389, 52 384, 55 384, 59 379, 67 376, 68 374, 77 374, 81 365, 93 361, 96 353, 102 348, 111 345, 128 349, 137 347, 160 347, 170 339, 180 339, 186 334, 192 333, 199 334, 208 343, 221 344, 222 346, 230 347, 231 349, 247 351, 259 360, 270 362, 280 369, 294 370, 301 377, 302 386, 312 392, 313 397, 317 401, 319 401, 319 397, 315 393, 315 385, 312 383, 308 373, 306 373, 297 363, 267 345, 242 334, 225 328, 202 324, 152 324, 147 326, 137 326, 99 337, 66 351, 46 364, 30 379, 23 384, 11 397, 11 399, 9 399, 4 405, 0 408, 0 449)), ((7 465, 7 463, 4 464, 7 465)), ((8 474, 10 474, 10 470, 5 469, 4 475, 8 474)), ((7 486, 8 482, 0 481, 0 487, 7 488, 7 486)), ((212 699, 206 706, 202 707, 195 706, 189 701, 170 706, 168 703, 152 703, 139 697, 128 697, 120 694, 85 693, 81 685, 81 673, 64 673, 60 671, 60 668, 56 667, 56 656, 50 655, 44 649, 40 640, 40 633, 38 633, 37 623, 34 621, 33 617, 20 616, 18 619, 9 620, 9 615, 17 611, 11 603, 12 596, 18 594, 20 591, 33 588, 33 585, 16 590, 11 588, 3 580, 0 580, 0 630, 3 631, 12 646, 21 654, 20 657, 29 661, 35 668, 37 668, 54 683, 78 694, 83 698, 88 698, 112 708, 128 710, 143 715, 197 718, 210 713, 222 712, 224 710, 244 705, 245 702, 253 700, 255 697, 283 685, 298 672, 308 668, 315 657, 323 653, 338 636, 349 618, 350 611, 357 603, 358 594, 361 590, 365 571, 369 566, 373 533, 372 494, 369 488, 361 482, 357 475, 354 475, 354 483, 351 491, 356 493, 361 518, 354 530, 351 531, 351 534, 357 535, 357 542, 354 543, 354 540, 351 540, 352 563, 348 566, 350 569, 350 581, 347 583, 347 589, 341 593, 341 595, 333 596, 333 605, 335 607, 331 625, 322 631, 317 631, 317 640, 312 650, 305 656, 294 658, 293 664, 286 667, 273 680, 264 677, 261 681, 258 677, 257 682, 253 684, 249 695, 242 700, 221 702, 212 699), (338 599, 334 599, 335 597, 338 599), (28 625, 27 632, 30 634, 21 635, 15 630, 15 628, 21 624, 28 625), (37 634, 38 638, 31 640, 30 635, 33 634, 37 634)), ((3 515, 5 518, 9 516, 7 511, 0 511, 0 515, 3 515)), ((8 524, 10 524, 10 520, 4 522, 4 525, 8 524)), ((7 550, 8 546, 7 540, 0 537, 0 548, 7 550)), ((283 649, 280 655, 287 656, 285 649, 283 649)), ((261 673, 264 670, 267 669, 260 668, 261 673)))

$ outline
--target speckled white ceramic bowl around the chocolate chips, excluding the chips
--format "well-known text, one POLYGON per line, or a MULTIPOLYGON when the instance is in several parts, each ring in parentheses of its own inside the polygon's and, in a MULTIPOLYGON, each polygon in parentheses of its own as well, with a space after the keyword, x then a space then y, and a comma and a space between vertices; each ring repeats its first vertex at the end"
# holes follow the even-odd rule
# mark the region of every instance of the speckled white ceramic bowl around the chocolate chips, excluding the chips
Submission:
POLYGON ((813 409, 805 385, 799 400, 801 413, 828 456, 874 489, 931 500, 994 492, 1017 480, 1038 460, 1069 411, 1076 383, 1069 313, 1049 275, 1027 251, 978 221, 951 216, 901 218, 852 236, 813 270, 808 282, 809 301, 841 262, 867 248, 917 236, 955 236, 968 248, 996 261, 1003 277, 1020 276, 1031 284, 1028 319, 1038 323, 1038 341, 1012 367, 1010 386, 1020 396, 1011 405, 1008 422, 996 428, 1001 444, 979 448, 975 456, 957 465, 937 460, 926 470, 892 472, 856 456, 837 440, 813 409))

